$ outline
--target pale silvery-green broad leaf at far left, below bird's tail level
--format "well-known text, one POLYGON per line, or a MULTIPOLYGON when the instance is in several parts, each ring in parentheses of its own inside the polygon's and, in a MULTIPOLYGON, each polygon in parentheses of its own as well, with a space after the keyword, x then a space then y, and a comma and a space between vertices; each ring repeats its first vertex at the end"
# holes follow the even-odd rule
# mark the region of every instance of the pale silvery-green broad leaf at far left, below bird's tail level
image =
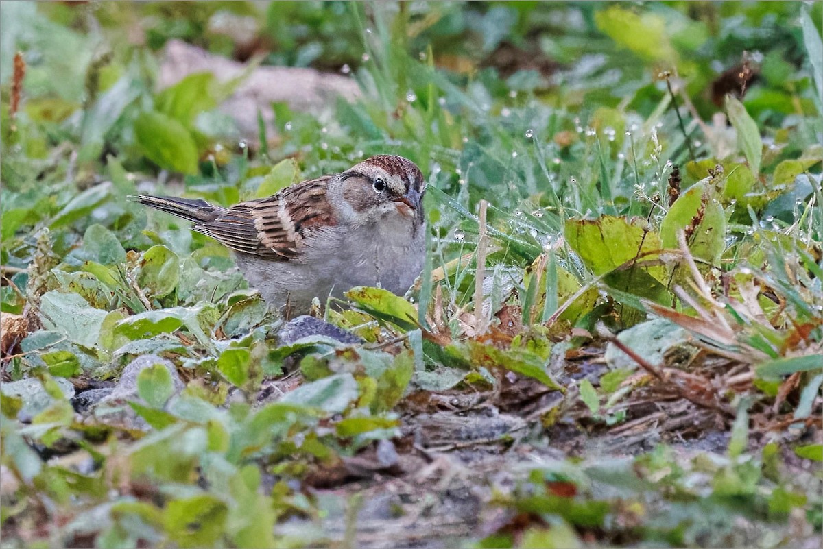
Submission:
POLYGON ((108 313, 91 307, 77 293, 52 290, 40 299, 40 319, 46 330, 64 334, 72 343, 94 347, 108 313))

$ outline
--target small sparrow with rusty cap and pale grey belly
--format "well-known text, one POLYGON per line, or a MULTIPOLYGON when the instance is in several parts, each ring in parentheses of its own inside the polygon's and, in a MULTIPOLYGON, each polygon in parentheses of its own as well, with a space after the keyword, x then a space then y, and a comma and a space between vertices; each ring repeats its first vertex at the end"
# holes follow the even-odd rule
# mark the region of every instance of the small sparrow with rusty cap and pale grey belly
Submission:
POLYGON ((425 259, 425 181, 408 159, 378 155, 230 208, 171 196, 130 196, 193 222, 234 252, 249 285, 286 319, 314 298, 355 286, 402 294, 425 259))

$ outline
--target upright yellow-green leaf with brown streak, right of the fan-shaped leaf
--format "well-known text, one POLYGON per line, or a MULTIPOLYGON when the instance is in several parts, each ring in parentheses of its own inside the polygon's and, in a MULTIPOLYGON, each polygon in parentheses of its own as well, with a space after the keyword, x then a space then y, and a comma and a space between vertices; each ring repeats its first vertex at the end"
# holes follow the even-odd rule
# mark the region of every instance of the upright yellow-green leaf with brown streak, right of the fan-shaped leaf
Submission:
POLYGON ((660 225, 663 247, 677 249, 677 232, 686 228, 691 231, 686 239, 691 254, 718 265, 726 247, 726 215, 705 181, 692 185, 668 210, 660 225))

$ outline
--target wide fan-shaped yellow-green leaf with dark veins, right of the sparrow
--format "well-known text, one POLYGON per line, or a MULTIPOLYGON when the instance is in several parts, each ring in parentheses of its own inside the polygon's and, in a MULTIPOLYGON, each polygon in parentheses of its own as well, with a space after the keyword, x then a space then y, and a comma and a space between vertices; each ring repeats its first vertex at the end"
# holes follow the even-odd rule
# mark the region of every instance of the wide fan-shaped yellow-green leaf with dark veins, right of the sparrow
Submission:
MULTIPOLYGON (((660 237, 644 227, 644 222, 611 215, 569 219, 565 238, 594 274, 606 274, 638 256, 639 261, 651 259, 641 255, 661 248, 660 237)), ((665 279, 663 267, 651 267, 648 272, 659 281, 665 279)))

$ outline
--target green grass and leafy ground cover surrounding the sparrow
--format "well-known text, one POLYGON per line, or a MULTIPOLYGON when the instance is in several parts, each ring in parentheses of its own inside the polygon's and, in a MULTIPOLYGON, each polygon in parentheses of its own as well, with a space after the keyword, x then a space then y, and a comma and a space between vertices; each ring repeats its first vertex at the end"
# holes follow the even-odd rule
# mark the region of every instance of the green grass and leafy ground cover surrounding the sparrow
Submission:
MULTIPOLYGON (((798 471, 821 446, 821 5, 3 2, 0 306, 31 321, 4 343, 4 545, 362 542, 366 487, 334 475, 385 441, 416 456, 403 429, 421 402, 455 401, 470 425, 472 394, 529 427, 496 435, 511 482, 466 480, 483 512, 455 543, 745 547, 741 523, 772 547, 819 535, 819 468, 798 471), (265 106, 278 135, 249 146, 216 113, 239 82, 156 91, 170 39, 237 53, 210 27, 221 10, 255 21, 254 62, 350 74, 362 97, 319 117, 265 106), (757 80, 715 104, 713 81, 744 58, 757 80), (405 298, 363 289, 328 307, 365 339, 351 348, 278 348, 281 321, 226 249, 125 199, 230 205, 386 153, 427 178, 429 261, 405 298), (188 380, 138 377, 123 406, 151 431, 74 412, 69 385, 149 353, 188 380), (605 362, 577 378, 587 353, 605 362), (272 387, 286 395, 263 399, 272 387), (696 432, 646 427, 675 447, 614 434, 679 405, 696 432)), ((437 480, 410 482, 448 501, 437 480)))

